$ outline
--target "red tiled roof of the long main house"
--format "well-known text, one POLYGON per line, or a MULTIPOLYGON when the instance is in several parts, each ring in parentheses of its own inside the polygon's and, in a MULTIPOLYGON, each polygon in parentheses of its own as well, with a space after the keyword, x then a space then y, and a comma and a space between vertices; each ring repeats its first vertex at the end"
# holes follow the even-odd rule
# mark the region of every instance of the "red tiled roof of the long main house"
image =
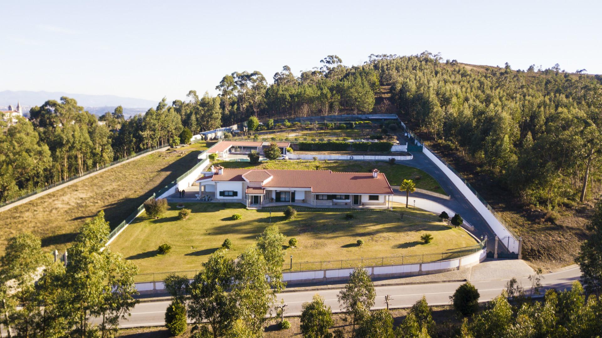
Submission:
MULTIPOLYGON (((253 169, 224 169, 222 175, 213 175, 213 181, 244 181, 243 175, 253 169)), ((332 172, 329 170, 262 170, 272 175, 272 180, 262 184, 264 188, 311 189, 312 193, 349 193, 393 195, 393 189, 385 174, 376 178, 371 172, 332 172)), ((261 172, 261 171, 258 171, 261 172)), ((254 173, 252 175, 255 175, 254 173)))

